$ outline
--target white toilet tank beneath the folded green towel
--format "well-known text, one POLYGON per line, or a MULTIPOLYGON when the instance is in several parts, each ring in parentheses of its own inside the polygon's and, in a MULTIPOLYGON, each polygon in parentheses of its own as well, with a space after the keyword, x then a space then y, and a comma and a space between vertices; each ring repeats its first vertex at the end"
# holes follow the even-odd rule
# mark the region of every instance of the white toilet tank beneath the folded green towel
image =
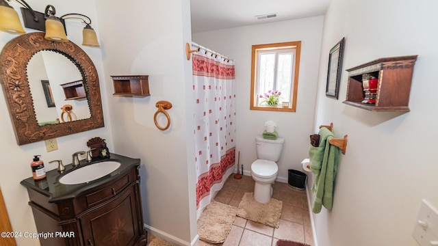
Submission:
POLYGON ((275 140, 263 139, 262 136, 255 137, 257 159, 275 162, 279 161, 284 142, 285 139, 282 137, 277 137, 275 140))

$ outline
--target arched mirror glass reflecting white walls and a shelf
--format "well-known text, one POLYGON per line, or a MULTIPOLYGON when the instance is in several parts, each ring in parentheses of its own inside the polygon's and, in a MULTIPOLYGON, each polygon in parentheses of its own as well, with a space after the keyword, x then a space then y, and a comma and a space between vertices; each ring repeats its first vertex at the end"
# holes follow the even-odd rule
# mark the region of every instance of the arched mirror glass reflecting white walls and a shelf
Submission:
POLYGON ((71 81, 80 81, 81 92, 84 93, 81 72, 66 56, 53 51, 39 51, 29 60, 26 72, 36 120, 40 126, 91 117, 86 98, 69 100, 68 95, 64 93, 63 86, 71 81), (41 81, 49 81, 48 87, 55 107, 48 107, 41 81), (68 107, 64 107, 65 105, 68 107), (70 110, 66 111, 66 108, 70 110))

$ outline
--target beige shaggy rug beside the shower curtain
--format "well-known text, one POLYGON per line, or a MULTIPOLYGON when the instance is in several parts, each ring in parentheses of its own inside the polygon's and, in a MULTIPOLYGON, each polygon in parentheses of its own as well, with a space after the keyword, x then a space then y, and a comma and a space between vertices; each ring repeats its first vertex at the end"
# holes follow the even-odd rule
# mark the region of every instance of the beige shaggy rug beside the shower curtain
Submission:
POLYGON ((208 243, 223 243, 235 219, 237 208, 212 200, 198 219, 199 239, 208 243))

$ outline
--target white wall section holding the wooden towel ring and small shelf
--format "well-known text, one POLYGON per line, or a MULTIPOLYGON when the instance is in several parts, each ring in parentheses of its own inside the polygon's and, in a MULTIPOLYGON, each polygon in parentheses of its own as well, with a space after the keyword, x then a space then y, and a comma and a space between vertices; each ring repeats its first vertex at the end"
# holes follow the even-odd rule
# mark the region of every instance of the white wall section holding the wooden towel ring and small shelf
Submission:
MULTIPOLYGON (((151 96, 108 98, 114 150, 140 158, 144 223, 153 234, 188 245, 196 237, 190 2, 96 0, 104 81, 149 75, 151 96), (124 11, 120 11, 120 7, 124 11), (170 128, 154 124, 155 102, 168 100, 170 128)), ((162 122, 162 125, 166 122, 162 122)))

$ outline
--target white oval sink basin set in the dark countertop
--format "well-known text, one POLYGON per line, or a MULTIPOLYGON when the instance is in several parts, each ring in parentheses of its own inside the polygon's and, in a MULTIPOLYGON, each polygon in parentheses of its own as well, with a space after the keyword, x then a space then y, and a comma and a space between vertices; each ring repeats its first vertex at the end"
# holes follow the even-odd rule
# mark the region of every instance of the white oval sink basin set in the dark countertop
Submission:
POLYGON ((81 184, 90 182, 114 172, 120 167, 117 161, 103 161, 85 167, 79 167, 60 178, 61 184, 81 184))

